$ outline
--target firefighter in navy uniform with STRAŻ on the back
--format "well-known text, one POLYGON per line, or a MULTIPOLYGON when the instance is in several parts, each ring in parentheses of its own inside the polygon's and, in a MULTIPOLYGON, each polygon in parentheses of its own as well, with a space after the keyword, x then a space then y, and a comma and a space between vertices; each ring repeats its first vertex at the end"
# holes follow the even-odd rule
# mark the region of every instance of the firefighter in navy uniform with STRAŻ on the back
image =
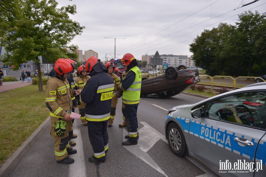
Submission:
POLYGON ((108 152, 107 125, 111 112, 114 82, 105 73, 104 64, 95 56, 86 61, 85 69, 91 78, 81 92, 80 101, 86 104, 85 116, 88 122, 89 140, 94 152, 94 155, 89 157, 89 161, 104 163, 108 152))

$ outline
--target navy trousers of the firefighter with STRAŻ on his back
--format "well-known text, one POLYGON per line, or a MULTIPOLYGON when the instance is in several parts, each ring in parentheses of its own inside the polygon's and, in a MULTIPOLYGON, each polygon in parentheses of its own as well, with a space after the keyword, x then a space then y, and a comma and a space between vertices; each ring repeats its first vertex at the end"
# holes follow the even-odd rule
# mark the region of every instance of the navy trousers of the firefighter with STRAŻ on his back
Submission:
POLYGON ((93 148, 94 157, 100 161, 106 160, 108 152, 108 121, 93 122, 88 121, 88 133, 90 144, 93 148))

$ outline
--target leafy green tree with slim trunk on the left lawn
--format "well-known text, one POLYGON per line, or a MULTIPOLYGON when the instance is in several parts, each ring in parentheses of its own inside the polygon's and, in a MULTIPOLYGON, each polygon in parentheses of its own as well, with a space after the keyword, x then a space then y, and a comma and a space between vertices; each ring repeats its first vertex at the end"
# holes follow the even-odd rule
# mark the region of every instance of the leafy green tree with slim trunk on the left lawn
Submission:
MULTIPOLYGON (((55 0, 22 0, 19 4, 24 16, 5 19, 8 23, 7 33, 1 37, 2 46, 7 53, 1 56, 3 62, 14 65, 18 70, 20 64, 28 61, 37 63, 40 71, 38 56, 46 56, 49 61, 59 58, 76 56, 70 54, 67 48, 75 51, 77 46, 69 45, 69 42, 82 33, 84 27, 78 22, 72 21, 68 14, 76 14, 76 6, 64 6, 56 8, 55 0), (13 32, 14 33, 8 33, 13 32)), ((15 7, 17 4, 10 4, 15 7)), ((39 90, 43 91, 41 74, 38 72, 40 81, 39 90)))

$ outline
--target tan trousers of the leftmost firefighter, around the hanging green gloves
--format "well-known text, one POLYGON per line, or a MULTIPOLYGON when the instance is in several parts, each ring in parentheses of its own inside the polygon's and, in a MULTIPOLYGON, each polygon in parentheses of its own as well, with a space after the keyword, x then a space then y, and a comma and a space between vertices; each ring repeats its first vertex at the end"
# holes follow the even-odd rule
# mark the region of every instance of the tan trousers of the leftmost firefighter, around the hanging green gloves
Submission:
POLYGON ((73 131, 73 126, 71 121, 66 121, 64 118, 61 118, 62 121, 67 122, 66 124, 66 133, 64 137, 58 137, 54 134, 55 132, 55 124, 56 121, 58 121, 57 117, 51 118, 51 129, 50 134, 54 139, 54 154, 56 156, 56 160, 63 160, 67 157, 67 148, 70 148, 69 146, 69 130, 73 131))

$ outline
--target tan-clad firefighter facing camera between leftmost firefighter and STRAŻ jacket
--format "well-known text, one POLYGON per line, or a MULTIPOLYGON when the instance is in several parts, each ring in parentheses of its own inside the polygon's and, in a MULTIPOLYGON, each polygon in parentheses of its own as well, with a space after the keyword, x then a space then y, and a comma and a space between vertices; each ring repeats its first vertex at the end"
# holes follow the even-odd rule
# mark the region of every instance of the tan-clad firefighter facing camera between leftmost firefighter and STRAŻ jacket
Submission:
MULTIPOLYGON (((85 84, 87 83, 87 81, 90 79, 90 76, 86 74, 85 66, 81 65, 78 70, 80 74, 79 74, 79 77, 75 79, 75 82, 77 83, 77 87, 82 90, 85 84)), ((84 126, 88 126, 88 123, 85 119, 85 104, 80 102, 80 105, 78 106, 78 108, 80 111, 80 115, 81 115, 80 120, 82 124, 84 126)))

